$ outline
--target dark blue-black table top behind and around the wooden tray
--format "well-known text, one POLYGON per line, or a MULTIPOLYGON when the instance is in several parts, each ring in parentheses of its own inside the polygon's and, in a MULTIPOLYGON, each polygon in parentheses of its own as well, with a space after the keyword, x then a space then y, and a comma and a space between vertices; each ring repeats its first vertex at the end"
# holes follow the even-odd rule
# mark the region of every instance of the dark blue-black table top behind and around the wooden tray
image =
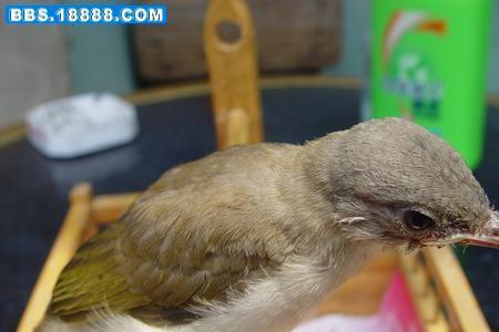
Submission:
MULTIPOLYGON (((268 142, 303 143, 356 124, 353 89, 272 89, 263 93, 268 142)), ((0 149, 0 331, 13 331, 78 181, 96 194, 143 190, 164 170, 215 151, 207 95, 139 106, 141 134, 126 146, 71 160, 39 155, 26 139, 0 149)), ((499 110, 489 108, 485 158, 475 172, 499 206, 499 110), (496 139, 495 139, 496 138, 496 139)), ((470 247, 466 271, 492 330, 499 331, 499 252, 470 247)))

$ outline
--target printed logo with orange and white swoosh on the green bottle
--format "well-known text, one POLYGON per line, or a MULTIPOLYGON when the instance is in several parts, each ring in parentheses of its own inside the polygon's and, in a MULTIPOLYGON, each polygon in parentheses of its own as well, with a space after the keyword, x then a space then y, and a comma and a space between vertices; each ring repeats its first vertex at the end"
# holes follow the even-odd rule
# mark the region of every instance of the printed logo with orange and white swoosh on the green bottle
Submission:
POLYGON ((445 35, 447 23, 421 11, 397 11, 389 21, 383 43, 383 90, 393 97, 399 115, 440 134, 445 86, 432 59, 436 54, 415 44, 445 35))

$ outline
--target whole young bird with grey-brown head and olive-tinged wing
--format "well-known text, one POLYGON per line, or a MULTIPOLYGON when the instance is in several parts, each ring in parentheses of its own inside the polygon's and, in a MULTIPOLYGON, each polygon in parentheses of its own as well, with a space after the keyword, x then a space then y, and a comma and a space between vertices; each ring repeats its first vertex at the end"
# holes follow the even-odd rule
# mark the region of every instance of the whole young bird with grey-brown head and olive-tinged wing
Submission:
POLYGON ((166 172, 65 267, 38 331, 288 331, 384 247, 498 246, 459 155, 376 120, 166 172))

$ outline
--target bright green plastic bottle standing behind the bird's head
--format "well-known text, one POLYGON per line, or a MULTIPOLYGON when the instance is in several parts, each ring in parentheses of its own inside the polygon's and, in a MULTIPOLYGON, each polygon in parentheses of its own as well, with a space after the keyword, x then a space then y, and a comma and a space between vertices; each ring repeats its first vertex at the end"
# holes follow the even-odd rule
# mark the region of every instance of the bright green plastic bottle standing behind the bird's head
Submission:
POLYGON ((374 0, 374 117, 404 116, 469 167, 482 155, 490 0, 374 0))

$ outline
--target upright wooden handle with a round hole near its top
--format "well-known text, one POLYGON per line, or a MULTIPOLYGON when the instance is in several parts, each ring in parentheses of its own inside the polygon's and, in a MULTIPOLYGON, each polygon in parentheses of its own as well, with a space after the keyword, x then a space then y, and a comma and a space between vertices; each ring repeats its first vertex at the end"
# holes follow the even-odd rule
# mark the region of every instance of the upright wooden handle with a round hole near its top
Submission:
POLYGON ((204 22, 218 148, 263 141, 255 33, 244 0, 212 0, 204 22), (237 33, 224 40, 223 28, 237 33))

